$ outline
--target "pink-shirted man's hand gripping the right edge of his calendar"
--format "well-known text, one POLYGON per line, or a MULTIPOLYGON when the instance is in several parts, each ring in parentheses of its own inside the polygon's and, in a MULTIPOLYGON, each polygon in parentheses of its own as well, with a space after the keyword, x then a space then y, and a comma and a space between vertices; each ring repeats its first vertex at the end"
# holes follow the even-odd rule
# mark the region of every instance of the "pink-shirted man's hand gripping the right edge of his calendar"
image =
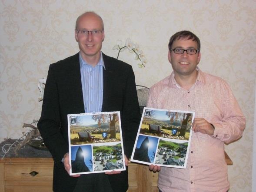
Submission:
POLYGON ((192 130, 194 132, 201 132, 201 133, 207 134, 209 136, 212 136, 214 133, 213 126, 203 118, 195 118, 194 119, 194 122, 192 125, 192 130))

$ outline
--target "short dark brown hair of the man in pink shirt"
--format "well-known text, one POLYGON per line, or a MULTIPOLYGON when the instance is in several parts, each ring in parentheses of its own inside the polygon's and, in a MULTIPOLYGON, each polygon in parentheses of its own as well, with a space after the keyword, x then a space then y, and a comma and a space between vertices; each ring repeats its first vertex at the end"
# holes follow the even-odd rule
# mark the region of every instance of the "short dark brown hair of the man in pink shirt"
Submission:
POLYGON ((180 39, 196 41, 197 50, 198 50, 198 52, 200 52, 200 48, 201 48, 200 40, 194 33, 190 32, 190 31, 179 31, 179 32, 175 33, 173 36, 171 36, 169 44, 168 44, 169 50, 172 49, 173 42, 175 40, 180 40, 180 39))

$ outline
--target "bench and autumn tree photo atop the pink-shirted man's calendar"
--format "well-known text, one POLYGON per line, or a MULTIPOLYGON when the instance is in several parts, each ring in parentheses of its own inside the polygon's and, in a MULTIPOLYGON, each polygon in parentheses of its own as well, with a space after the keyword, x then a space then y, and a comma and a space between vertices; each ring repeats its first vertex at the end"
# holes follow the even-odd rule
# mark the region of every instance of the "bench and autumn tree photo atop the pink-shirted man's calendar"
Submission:
POLYGON ((146 109, 140 134, 189 140, 193 113, 146 109))

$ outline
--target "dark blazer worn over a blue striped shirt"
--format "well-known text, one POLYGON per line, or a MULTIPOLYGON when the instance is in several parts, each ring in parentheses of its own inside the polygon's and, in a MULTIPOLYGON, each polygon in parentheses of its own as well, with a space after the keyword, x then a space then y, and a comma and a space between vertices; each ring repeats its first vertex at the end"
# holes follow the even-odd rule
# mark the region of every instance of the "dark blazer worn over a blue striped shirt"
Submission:
MULTIPOLYGON (((103 54, 102 112, 120 111, 124 152, 129 158, 140 124, 140 109, 132 67, 103 54)), ((68 152, 67 114, 85 113, 79 53, 49 67, 41 118, 37 123, 54 159, 53 191, 73 191, 76 178, 70 177, 61 162, 68 152)), ((126 167, 127 168, 127 167, 126 167)), ((102 173, 104 174, 104 173, 102 173)), ((90 177, 91 174, 86 174, 90 177)), ((128 189, 128 173, 109 175, 114 191, 128 189)))

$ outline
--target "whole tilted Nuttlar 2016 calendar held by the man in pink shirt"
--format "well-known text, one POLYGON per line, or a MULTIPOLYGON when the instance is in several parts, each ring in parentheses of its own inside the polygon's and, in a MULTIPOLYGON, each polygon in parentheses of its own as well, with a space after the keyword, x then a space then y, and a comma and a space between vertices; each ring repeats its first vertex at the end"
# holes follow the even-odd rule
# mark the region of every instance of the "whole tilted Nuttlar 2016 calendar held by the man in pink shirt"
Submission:
POLYGON ((186 169, 195 113, 144 108, 132 162, 186 169))

